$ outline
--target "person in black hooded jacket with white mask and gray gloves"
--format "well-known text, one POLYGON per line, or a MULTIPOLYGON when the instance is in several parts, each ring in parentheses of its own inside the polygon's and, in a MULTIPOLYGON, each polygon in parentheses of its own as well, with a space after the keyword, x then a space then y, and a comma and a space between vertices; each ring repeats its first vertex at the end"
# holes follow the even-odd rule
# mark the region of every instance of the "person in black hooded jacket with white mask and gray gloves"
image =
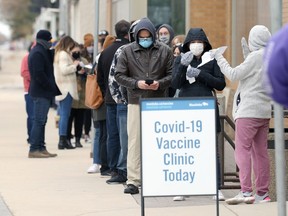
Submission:
MULTIPOLYGON (((183 53, 176 57, 173 65, 172 87, 179 89, 179 97, 216 97, 215 90, 222 91, 225 86, 225 78, 221 73, 215 59, 197 68, 202 63, 202 55, 211 50, 212 46, 202 28, 191 28, 182 46, 183 53)), ((217 133, 221 131, 218 106, 216 106, 217 133)), ((217 160, 218 173, 218 199, 224 200, 220 191, 220 161, 217 160)), ((216 197, 213 197, 216 198, 216 197)), ((183 196, 177 196, 175 201, 184 200, 183 196)))

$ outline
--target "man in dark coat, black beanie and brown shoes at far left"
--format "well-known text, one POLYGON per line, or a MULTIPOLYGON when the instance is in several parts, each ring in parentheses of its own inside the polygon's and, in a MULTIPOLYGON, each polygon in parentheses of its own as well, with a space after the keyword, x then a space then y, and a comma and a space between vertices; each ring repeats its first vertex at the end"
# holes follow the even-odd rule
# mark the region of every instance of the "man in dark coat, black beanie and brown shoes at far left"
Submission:
POLYGON ((30 71, 29 95, 33 98, 34 119, 31 129, 29 158, 56 157, 47 151, 45 126, 50 105, 55 96, 60 95, 54 77, 53 53, 50 50, 52 36, 47 30, 40 30, 36 35, 36 46, 28 56, 30 71))

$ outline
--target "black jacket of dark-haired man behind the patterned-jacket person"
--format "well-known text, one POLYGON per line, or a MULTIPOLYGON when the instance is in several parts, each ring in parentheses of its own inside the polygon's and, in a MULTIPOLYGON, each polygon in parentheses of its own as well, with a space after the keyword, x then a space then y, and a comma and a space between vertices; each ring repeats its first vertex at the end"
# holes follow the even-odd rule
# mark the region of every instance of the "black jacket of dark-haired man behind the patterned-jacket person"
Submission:
POLYGON ((100 86, 102 94, 104 95, 105 103, 106 104, 116 104, 113 100, 110 90, 109 90, 109 83, 108 77, 110 72, 110 67, 113 61, 113 57, 117 49, 125 44, 128 44, 128 39, 116 39, 113 44, 107 47, 105 50, 102 51, 100 54, 98 65, 97 65, 97 82, 100 86))

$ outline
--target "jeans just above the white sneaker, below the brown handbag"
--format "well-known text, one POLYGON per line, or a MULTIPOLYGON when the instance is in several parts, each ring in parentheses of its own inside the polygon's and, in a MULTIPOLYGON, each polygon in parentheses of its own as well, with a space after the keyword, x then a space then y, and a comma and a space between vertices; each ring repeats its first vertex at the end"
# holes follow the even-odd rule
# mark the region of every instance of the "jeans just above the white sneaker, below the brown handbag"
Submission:
POLYGON ((101 164, 101 171, 109 169, 107 163, 106 120, 94 121, 93 164, 101 164))

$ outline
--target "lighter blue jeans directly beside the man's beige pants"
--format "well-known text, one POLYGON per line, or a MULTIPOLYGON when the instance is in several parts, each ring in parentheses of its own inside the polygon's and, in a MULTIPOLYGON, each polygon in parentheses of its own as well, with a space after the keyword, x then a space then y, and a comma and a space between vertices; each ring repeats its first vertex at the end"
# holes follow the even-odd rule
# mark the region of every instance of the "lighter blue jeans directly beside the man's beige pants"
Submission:
POLYGON ((117 104, 117 125, 120 138, 120 155, 118 159, 118 173, 127 175, 127 152, 128 152, 128 135, 127 135, 127 105, 117 104))

